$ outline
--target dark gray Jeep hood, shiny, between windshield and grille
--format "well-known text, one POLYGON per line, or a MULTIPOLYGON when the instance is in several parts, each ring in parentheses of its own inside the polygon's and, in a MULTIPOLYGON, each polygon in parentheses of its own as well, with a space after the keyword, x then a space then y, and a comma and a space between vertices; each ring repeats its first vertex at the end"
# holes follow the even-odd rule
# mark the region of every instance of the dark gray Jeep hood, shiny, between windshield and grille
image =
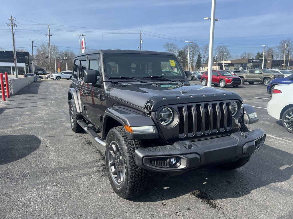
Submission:
POLYGON ((147 103, 152 105, 151 111, 164 105, 208 102, 219 100, 240 100, 241 97, 228 91, 202 85, 173 82, 154 82, 147 84, 111 85, 106 94, 122 102, 128 102, 144 108, 147 103))

